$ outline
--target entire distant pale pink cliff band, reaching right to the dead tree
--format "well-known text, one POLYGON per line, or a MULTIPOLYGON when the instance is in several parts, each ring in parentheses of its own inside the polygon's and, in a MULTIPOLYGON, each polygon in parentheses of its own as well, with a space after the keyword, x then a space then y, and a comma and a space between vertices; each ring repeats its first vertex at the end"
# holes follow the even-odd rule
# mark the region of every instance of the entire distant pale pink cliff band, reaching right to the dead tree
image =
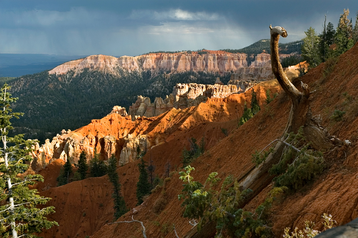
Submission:
MULTIPOLYGON (((54 69, 50 74, 63 74, 73 70, 75 74, 88 68, 92 70, 104 70, 106 72, 116 73, 117 67, 133 71, 151 70, 166 72, 183 71, 208 71, 208 72, 235 72, 241 75, 241 78, 272 78, 270 55, 266 53, 258 54, 255 60, 248 65, 246 54, 232 54, 224 51, 206 51, 207 54, 197 54, 186 52, 169 54, 155 53, 142 56, 130 57, 122 56, 119 58, 113 56, 94 55, 83 59, 65 62, 54 69)), ((280 55, 280 58, 291 55, 280 55)))

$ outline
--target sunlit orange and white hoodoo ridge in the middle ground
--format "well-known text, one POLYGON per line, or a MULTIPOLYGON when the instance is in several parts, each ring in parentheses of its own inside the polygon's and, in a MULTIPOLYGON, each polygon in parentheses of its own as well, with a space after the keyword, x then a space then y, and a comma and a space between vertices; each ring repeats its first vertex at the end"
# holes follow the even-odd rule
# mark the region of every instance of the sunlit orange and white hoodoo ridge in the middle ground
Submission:
MULTIPOLYGON (((277 91, 277 83, 264 83, 257 85, 256 89, 261 105, 266 99, 266 88, 273 87, 273 91, 277 91)), ((243 113, 244 102, 251 99, 250 92, 232 94, 236 90, 235 85, 180 84, 175 90, 177 90, 175 97, 179 98, 177 100, 179 109, 173 106, 175 98, 173 95, 165 100, 156 98, 154 103, 150 103, 149 98, 139 96, 129 109, 129 116, 123 117, 122 115, 126 115, 125 110, 114 107, 113 112, 103 119, 94 119, 90 124, 74 131, 62 130, 61 135, 55 136, 51 142, 47 139, 42 146, 36 144, 31 163, 32 169, 38 172, 57 159, 63 162, 69 160, 72 164, 77 164, 82 151, 85 151, 89 161, 93 157, 95 148, 101 153, 102 160, 107 160, 115 154, 119 165, 124 165, 136 160, 138 146, 140 151, 144 152, 164 143, 170 135, 168 131, 186 130, 203 121, 237 119, 238 115, 243 113), (231 96, 225 97, 226 95, 231 96), (192 100, 191 104, 194 104, 195 99, 192 99, 194 97, 203 97, 206 103, 200 104, 198 101, 195 103, 196 107, 185 106, 190 100, 192 100), (228 111, 223 111, 223 104, 228 105, 228 111), (196 112, 199 109, 200 112, 196 112), (208 112, 204 113, 205 111, 208 112), (153 113, 158 115, 153 116, 153 113), (202 113, 205 114, 204 117, 197 115, 202 113), (137 119, 132 120, 132 118, 137 119)))

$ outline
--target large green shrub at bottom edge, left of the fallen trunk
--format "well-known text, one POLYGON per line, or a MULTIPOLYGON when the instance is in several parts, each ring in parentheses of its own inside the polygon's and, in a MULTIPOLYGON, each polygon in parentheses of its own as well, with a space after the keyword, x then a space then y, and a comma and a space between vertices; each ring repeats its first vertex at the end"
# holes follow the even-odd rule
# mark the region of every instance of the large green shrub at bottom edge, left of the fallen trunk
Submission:
POLYGON ((250 189, 241 191, 239 182, 233 176, 228 176, 219 191, 213 189, 220 181, 217 173, 211 173, 205 184, 194 181, 190 172, 194 168, 187 166, 184 172, 179 172, 184 188, 179 194, 185 207, 183 217, 200 219, 198 229, 208 221, 215 222, 216 238, 223 237, 272 237, 268 223, 269 210, 274 198, 287 188, 275 187, 265 201, 259 205, 254 213, 244 211, 241 203, 251 192, 250 189))

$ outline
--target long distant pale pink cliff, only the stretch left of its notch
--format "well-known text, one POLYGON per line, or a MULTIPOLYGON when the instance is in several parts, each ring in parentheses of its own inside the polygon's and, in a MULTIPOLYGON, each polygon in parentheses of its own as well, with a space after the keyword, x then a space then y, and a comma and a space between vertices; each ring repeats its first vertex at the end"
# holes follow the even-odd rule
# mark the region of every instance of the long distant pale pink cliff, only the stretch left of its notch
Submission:
POLYGON ((236 71, 240 67, 247 66, 246 54, 223 53, 211 54, 187 54, 187 53, 157 53, 142 56, 130 57, 122 56, 119 58, 104 55, 89 56, 84 59, 73 60, 63 63, 49 71, 49 74, 64 74, 69 70, 75 73, 84 68, 108 70, 115 72, 116 67, 133 71, 209 71, 209 72, 230 72, 236 71))

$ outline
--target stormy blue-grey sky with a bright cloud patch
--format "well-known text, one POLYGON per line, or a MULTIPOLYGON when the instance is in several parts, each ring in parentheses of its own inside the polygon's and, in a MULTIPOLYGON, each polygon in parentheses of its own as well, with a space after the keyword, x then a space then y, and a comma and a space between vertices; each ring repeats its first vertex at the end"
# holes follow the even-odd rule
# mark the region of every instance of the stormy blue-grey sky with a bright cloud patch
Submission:
POLYGON ((282 43, 334 27, 358 0, 0 0, 0 53, 137 56, 155 51, 240 49, 288 32, 282 43))

